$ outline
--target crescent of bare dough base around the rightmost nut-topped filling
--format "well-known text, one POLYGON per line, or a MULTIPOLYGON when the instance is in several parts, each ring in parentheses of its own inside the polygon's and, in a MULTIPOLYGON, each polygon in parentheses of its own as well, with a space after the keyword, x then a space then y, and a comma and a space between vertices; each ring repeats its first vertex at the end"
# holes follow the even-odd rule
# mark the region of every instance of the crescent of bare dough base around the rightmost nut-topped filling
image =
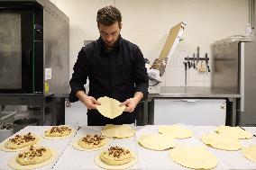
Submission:
POLYGON ((96 166, 100 166, 104 169, 127 169, 129 167, 132 167, 134 166, 137 161, 138 161, 138 156, 137 154, 133 153, 133 159, 127 163, 127 164, 124 164, 124 165, 121 165, 121 166, 109 166, 109 165, 106 165, 101 159, 100 159, 100 152, 96 154, 96 157, 95 157, 95 163, 96 163, 96 166))

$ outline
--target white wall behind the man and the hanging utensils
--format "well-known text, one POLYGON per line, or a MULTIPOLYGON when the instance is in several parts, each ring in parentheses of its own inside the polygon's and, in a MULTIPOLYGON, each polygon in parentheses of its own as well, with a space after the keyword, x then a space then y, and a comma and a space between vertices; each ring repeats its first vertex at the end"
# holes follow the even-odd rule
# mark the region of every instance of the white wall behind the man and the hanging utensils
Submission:
MULTIPOLYGON (((249 22, 249 0, 53 0, 70 21, 70 76, 84 40, 99 37, 96 12, 114 4, 123 14, 124 39, 137 44, 144 58, 158 58, 169 29, 178 22, 187 22, 184 38, 178 44, 166 69, 165 85, 184 86, 183 60, 192 57, 197 46, 201 56, 211 58, 210 46, 215 40, 230 35, 244 35, 249 22)), ((211 62, 211 61, 210 61, 211 62)), ((211 65, 211 63, 210 63, 211 65)), ((190 69, 190 86, 210 86, 211 76, 190 69)))

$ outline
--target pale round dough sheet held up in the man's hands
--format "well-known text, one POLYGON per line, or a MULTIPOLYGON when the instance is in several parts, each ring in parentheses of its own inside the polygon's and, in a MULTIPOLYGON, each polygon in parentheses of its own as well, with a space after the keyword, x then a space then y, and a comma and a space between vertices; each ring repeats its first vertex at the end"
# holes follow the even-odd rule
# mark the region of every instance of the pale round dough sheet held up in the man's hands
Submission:
POLYGON ((109 98, 109 97, 100 97, 97 99, 101 105, 96 105, 96 109, 106 118, 114 119, 115 117, 121 115, 125 109, 125 106, 120 107, 120 102, 109 98))

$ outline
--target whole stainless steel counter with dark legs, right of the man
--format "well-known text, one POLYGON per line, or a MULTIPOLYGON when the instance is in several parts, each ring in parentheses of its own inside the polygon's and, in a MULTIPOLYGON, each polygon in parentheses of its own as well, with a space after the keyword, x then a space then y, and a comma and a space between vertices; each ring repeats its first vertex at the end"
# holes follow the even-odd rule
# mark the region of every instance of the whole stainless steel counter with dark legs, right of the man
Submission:
POLYGON ((201 87, 201 86, 162 86, 160 94, 149 94, 143 102, 143 109, 139 116, 139 125, 153 124, 154 99, 158 98, 199 98, 199 99, 225 99, 226 125, 240 124, 241 94, 234 93, 233 89, 201 87))

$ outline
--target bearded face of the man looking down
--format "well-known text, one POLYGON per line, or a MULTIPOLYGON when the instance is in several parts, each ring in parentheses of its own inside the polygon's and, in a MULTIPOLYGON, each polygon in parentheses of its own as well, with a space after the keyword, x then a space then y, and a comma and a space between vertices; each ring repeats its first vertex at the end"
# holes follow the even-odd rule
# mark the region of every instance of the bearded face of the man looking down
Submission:
MULTIPOLYGON (((121 27, 121 26, 120 26, 121 27)), ((98 23, 98 30, 102 40, 105 42, 106 48, 113 48, 118 36, 120 35, 121 28, 118 22, 114 22, 110 26, 98 23)))

